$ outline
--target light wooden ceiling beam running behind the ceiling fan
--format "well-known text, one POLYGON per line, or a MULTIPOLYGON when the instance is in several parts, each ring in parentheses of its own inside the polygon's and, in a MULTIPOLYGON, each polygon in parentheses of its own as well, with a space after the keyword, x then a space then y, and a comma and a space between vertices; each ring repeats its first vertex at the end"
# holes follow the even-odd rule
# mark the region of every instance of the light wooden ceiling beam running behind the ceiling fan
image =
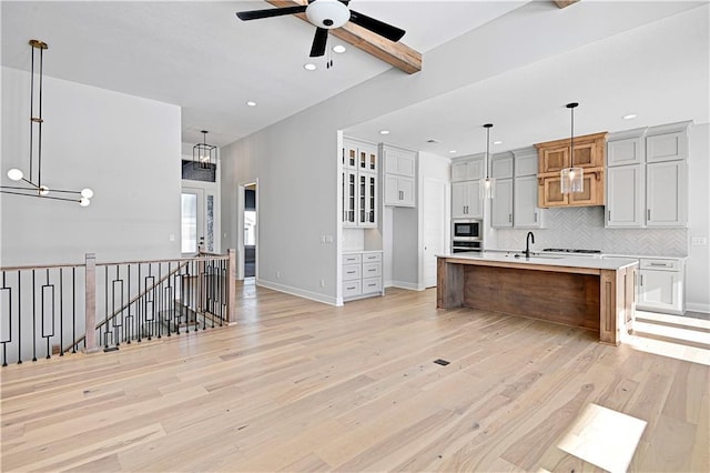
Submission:
MULTIPOLYGON (((278 8, 307 4, 307 0, 265 1, 278 8)), ((306 18, 305 13, 298 13, 295 14, 295 17, 298 17, 303 21, 313 26, 306 18)), ((331 34, 408 74, 413 74, 422 70, 420 52, 409 48, 403 42, 389 41, 388 39, 383 38, 379 34, 375 34, 372 31, 349 21, 341 28, 331 30, 331 34)))

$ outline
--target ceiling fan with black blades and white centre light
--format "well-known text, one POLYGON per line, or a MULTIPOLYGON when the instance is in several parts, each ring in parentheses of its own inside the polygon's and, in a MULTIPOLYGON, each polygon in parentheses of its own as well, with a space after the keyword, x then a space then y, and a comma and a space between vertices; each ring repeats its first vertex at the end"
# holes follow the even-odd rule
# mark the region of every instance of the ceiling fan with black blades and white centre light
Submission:
POLYGON ((389 41, 396 42, 402 39, 405 31, 387 24, 383 21, 359 13, 348 8, 349 0, 308 0, 308 4, 295 7, 270 8, 266 10, 240 11, 236 16, 240 20, 257 20, 261 18, 281 17, 284 14, 305 13, 308 21, 316 27, 311 57, 316 58, 325 54, 325 47, 328 39, 328 30, 341 28, 352 21, 389 41))

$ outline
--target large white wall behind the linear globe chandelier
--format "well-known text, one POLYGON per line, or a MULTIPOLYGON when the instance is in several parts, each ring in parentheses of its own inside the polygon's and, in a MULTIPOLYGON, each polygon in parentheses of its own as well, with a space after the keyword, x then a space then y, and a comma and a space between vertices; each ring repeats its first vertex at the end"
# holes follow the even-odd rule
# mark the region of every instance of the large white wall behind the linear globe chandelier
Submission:
MULTIPOLYGON (((2 179, 28 172, 30 74, 2 68, 2 179)), ((2 265, 180 256, 176 105, 44 77, 42 182, 91 205, 0 194, 2 265), (170 241, 174 235, 174 241, 170 241)))

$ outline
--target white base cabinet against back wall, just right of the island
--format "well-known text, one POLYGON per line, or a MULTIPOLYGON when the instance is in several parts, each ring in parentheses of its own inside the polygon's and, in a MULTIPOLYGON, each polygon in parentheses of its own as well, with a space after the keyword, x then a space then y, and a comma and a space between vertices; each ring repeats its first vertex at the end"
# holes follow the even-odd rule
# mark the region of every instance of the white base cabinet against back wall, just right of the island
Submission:
POLYGON ((637 309, 682 315, 684 264, 674 259, 640 259, 637 309))

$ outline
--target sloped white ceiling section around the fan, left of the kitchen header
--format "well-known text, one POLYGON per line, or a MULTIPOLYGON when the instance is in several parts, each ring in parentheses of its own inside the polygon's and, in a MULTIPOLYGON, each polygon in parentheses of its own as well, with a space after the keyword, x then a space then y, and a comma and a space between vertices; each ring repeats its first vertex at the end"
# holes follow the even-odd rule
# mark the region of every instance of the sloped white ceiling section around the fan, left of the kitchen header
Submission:
MULTIPOLYGON (((425 52, 523 3, 353 0, 351 8, 405 29, 402 42, 425 52)), ((43 40, 47 76, 181 105, 184 142, 202 141, 200 130, 209 130, 211 143, 227 144, 389 69, 346 44, 326 70, 324 59, 308 58, 311 24, 292 16, 236 18, 273 8, 264 1, 2 1, 0 8, 2 66, 29 70, 28 41, 43 40), (306 62, 320 69, 308 72, 306 62), (248 100, 257 107, 247 108, 248 100)))

